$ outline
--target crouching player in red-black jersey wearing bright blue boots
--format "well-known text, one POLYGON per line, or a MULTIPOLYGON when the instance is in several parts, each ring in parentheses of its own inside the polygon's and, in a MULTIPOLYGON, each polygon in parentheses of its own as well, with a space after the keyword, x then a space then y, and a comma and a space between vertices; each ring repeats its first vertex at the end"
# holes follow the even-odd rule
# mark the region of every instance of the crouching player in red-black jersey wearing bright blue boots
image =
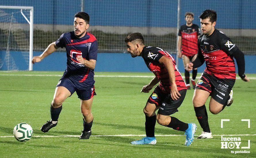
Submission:
POLYGON ((194 140, 196 124, 184 123, 175 117, 169 116, 177 112, 182 104, 187 87, 176 68, 173 57, 161 48, 144 45, 144 38, 140 33, 132 33, 125 38, 127 51, 132 57, 142 56, 149 70, 155 74, 151 82, 143 86, 141 92, 148 93, 159 81, 153 93, 148 98, 144 113, 146 116, 146 137, 131 142, 131 144, 156 144, 154 129, 158 124, 184 131, 185 145, 189 146, 194 140), (158 110, 156 115, 155 111, 158 110))

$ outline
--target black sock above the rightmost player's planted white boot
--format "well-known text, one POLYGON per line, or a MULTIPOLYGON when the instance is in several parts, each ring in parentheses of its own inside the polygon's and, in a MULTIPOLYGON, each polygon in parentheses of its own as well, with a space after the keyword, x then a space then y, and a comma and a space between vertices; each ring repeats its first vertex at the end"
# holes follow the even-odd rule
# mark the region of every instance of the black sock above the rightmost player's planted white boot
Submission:
POLYGON ((197 120, 198 120, 199 124, 201 125, 203 131, 211 132, 209 124, 208 124, 208 115, 207 115, 205 105, 200 106, 200 107, 194 107, 194 109, 196 112, 197 120))

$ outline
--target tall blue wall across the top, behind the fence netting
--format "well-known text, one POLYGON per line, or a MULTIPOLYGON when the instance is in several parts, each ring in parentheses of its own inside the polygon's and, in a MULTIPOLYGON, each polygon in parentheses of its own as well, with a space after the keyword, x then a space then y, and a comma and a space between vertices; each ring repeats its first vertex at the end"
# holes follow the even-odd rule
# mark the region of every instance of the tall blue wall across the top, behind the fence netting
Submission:
MULTIPOLYGON (((4 0, 0 5, 33 6, 35 24, 72 25, 81 0, 4 0)), ((186 11, 194 12, 194 23, 199 25, 200 13, 214 9, 217 28, 256 28, 252 22, 252 17, 256 17, 255 0, 181 0, 180 6, 180 24, 185 23, 182 19, 186 11)), ((85 0, 84 10, 91 17, 91 25, 177 27, 174 0, 85 0)))

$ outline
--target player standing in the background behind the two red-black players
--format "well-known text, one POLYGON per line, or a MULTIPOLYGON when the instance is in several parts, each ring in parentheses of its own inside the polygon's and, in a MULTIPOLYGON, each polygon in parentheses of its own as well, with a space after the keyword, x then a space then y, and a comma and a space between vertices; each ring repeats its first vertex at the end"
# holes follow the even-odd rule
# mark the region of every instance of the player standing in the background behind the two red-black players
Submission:
MULTIPOLYGON (((197 54, 197 38, 200 36, 199 27, 196 24, 193 24, 194 14, 191 12, 187 12, 185 14, 186 24, 182 25, 179 28, 178 33, 178 57, 183 60, 184 68, 185 68, 185 80, 186 86, 190 89, 189 79, 190 75, 186 69, 187 63, 190 61, 194 61, 196 59, 197 54)), ((195 89, 195 79, 197 74, 197 68, 194 68, 192 71, 192 79, 191 83, 193 88, 195 89)))

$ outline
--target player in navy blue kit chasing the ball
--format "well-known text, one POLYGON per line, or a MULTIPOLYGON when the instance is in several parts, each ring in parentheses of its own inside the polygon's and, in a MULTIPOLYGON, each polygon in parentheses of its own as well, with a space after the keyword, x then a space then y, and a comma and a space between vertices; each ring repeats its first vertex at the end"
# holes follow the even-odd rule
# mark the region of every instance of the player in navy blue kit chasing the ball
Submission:
POLYGON ((93 96, 96 95, 93 70, 97 60, 98 44, 96 38, 87 32, 88 28, 89 15, 85 12, 78 12, 74 16, 74 31, 62 34, 40 56, 33 57, 32 63, 34 64, 59 47, 65 47, 67 52, 67 68, 56 86, 51 102, 51 120, 41 127, 42 132, 48 132, 57 125, 62 103, 76 91, 83 114, 83 131, 79 139, 89 139, 91 136, 93 123, 91 105, 93 96))

